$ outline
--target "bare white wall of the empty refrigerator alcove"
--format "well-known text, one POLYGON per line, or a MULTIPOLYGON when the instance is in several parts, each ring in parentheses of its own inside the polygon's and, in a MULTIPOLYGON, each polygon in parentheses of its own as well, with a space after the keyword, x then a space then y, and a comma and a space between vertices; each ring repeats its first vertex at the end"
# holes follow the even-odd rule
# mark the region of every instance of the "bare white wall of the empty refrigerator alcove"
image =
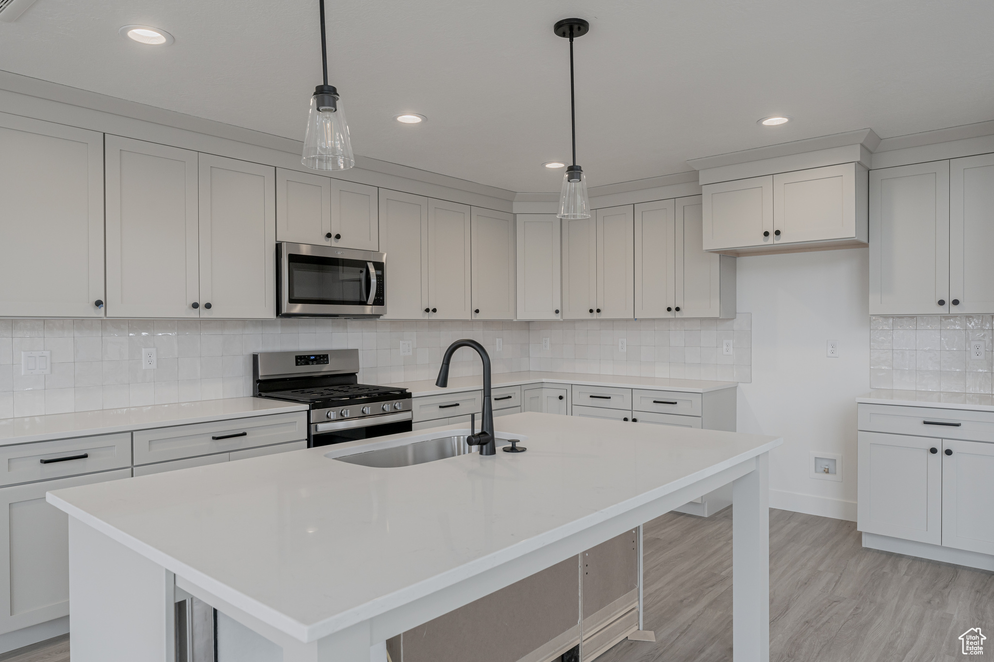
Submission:
POLYGON ((856 402, 870 389, 866 248, 741 257, 739 310, 752 313, 752 381, 739 432, 777 435, 769 504, 856 519, 856 402), (827 356, 827 341, 839 356, 827 356), (811 477, 811 453, 842 454, 842 481, 811 477))

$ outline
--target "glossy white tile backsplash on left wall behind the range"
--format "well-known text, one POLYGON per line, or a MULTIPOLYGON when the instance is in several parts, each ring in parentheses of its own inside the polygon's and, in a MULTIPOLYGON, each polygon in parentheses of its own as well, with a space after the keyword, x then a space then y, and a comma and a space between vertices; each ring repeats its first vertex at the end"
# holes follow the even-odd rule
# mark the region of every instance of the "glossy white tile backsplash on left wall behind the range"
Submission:
MULTIPOLYGON (((251 395, 251 353, 359 349, 360 381, 433 379, 441 351, 482 342, 495 372, 528 369, 527 322, 329 320, 0 320, 0 418, 251 395), (503 340, 496 351, 495 339, 503 340), (400 341, 414 351, 402 356, 400 341), (143 370, 141 349, 158 367, 143 370), (21 352, 52 351, 52 374, 21 374, 21 352)), ((459 349, 452 376, 480 374, 476 353, 459 349)))

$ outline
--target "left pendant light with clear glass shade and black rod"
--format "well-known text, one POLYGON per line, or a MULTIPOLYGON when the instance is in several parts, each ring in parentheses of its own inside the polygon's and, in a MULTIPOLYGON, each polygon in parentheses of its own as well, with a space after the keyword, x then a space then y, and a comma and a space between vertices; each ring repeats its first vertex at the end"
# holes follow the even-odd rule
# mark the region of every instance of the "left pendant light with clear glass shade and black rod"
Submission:
POLYGON ((328 84, 328 48, 324 38, 324 0, 321 7, 321 66, 324 84, 314 89, 310 114, 307 116, 307 133, 300 163, 313 170, 348 170, 356 164, 349 140, 349 125, 338 90, 328 84))

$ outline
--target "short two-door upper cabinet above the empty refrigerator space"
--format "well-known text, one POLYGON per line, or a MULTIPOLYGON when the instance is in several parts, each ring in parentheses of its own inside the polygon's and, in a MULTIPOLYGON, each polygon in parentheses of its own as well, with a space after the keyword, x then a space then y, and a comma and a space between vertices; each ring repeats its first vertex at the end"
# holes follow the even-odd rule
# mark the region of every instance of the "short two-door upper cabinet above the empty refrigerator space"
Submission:
POLYGON ((867 169, 812 168, 702 187, 705 250, 789 252, 867 243, 867 169))

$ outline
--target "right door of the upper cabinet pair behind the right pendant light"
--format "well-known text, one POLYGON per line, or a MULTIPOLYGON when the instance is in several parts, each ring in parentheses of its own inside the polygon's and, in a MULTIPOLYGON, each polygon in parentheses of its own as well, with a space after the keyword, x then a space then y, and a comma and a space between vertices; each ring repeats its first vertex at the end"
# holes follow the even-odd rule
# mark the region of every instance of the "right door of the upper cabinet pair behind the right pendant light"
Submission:
POLYGON ((597 308, 602 320, 635 317, 632 205, 597 209, 597 308))

